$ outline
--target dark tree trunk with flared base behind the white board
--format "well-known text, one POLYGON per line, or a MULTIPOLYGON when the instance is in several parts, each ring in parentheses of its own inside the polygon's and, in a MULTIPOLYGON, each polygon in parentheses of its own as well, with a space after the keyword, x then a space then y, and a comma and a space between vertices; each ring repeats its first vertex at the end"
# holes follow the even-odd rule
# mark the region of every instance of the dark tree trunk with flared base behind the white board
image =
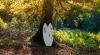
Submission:
POLYGON ((53 0, 44 0, 43 3, 43 17, 40 22, 40 27, 38 32, 35 36, 32 37, 32 42, 37 42, 39 44, 44 45, 43 41, 43 25, 46 23, 47 25, 49 23, 52 23, 52 15, 53 15, 53 0))

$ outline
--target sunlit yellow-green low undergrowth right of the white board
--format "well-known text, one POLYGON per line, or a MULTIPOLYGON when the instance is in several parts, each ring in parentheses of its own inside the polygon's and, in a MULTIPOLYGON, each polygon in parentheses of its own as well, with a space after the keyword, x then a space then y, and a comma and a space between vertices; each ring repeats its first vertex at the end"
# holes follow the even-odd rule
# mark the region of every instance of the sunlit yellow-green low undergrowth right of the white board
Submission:
POLYGON ((98 48, 98 35, 91 32, 83 32, 77 29, 59 29, 54 31, 54 37, 58 42, 62 43, 64 41, 64 43, 73 47, 98 48))

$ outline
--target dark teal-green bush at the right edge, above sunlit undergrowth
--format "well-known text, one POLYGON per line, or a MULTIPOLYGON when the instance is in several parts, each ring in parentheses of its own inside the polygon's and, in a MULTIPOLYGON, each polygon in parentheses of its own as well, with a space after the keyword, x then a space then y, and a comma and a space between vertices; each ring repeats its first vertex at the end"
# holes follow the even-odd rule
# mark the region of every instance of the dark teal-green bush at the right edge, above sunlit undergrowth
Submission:
POLYGON ((89 32, 98 32, 100 30, 100 13, 90 12, 89 15, 83 17, 83 21, 80 24, 80 29, 89 32))

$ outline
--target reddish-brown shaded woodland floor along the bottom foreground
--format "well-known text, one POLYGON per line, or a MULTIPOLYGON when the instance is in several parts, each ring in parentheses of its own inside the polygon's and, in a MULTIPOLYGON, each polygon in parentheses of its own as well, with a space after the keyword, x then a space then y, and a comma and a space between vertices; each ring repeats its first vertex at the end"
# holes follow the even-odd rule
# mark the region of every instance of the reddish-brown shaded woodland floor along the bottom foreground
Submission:
POLYGON ((67 46, 54 48, 34 44, 31 47, 0 47, 0 55, 100 55, 100 52, 89 53, 81 51, 80 54, 77 54, 77 51, 67 46))

